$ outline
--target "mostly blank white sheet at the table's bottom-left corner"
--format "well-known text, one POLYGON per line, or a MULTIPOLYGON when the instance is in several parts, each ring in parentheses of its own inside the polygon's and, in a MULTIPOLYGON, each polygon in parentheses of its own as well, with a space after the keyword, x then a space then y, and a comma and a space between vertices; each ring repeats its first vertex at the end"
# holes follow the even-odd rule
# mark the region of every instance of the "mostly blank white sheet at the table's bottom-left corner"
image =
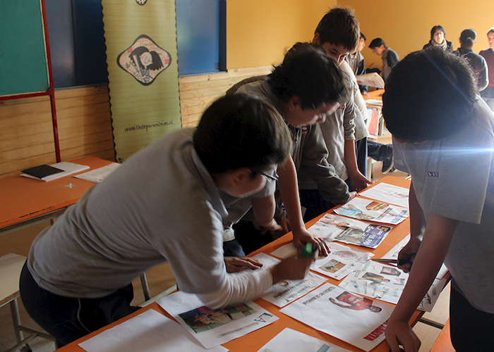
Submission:
POLYGON ((156 310, 147 310, 79 344, 87 352, 226 352, 217 346, 206 350, 179 323, 156 310))

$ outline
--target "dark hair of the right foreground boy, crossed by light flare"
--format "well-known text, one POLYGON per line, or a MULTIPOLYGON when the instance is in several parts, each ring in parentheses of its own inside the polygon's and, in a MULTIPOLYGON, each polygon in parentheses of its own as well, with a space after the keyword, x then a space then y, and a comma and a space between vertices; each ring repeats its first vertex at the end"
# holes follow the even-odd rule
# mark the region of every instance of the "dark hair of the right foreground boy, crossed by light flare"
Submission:
POLYGON ((405 142, 450 136, 471 120, 476 80, 464 58, 431 48, 392 69, 382 96, 387 130, 405 142))

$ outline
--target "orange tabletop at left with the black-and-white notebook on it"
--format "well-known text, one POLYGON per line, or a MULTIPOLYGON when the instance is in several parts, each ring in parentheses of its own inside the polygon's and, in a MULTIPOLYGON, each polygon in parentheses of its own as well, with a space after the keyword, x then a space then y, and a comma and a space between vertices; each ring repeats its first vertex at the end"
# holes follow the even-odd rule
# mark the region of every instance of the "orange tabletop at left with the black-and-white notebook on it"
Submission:
MULTIPOLYGON (((101 168, 111 163, 94 156, 86 156, 71 161, 88 165, 90 169, 101 168)), ((16 227, 42 215, 61 210, 76 203, 81 196, 95 185, 93 182, 79 180, 73 175, 44 182, 20 175, 0 179, 0 231, 16 227)))

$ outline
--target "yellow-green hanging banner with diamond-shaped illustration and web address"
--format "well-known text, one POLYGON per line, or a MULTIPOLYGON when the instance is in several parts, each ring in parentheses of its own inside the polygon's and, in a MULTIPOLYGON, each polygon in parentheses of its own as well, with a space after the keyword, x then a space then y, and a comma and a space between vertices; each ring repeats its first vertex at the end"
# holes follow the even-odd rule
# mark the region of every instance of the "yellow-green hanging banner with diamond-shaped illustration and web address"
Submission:
POLYGON ((116 160, 181 128, 173 0, 102 0, 116 160))

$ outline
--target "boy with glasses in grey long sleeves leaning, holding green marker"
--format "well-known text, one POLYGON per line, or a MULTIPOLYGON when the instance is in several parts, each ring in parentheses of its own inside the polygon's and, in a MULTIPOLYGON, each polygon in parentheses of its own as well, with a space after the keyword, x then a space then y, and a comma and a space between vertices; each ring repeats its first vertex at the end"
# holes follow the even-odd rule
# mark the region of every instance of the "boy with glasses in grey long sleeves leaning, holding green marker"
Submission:
POLYGON ((229 274, 222 253, 227 210, 219 191, 241 197, 262 189, 291 146, 265 101, 218 99, 197 128, 136 153, 38 235, 20 276, 26 310, 64 346, 135 311, 132 280, 165 260, 180 289, 210 308, 303 278, 313 256, 229 274))

